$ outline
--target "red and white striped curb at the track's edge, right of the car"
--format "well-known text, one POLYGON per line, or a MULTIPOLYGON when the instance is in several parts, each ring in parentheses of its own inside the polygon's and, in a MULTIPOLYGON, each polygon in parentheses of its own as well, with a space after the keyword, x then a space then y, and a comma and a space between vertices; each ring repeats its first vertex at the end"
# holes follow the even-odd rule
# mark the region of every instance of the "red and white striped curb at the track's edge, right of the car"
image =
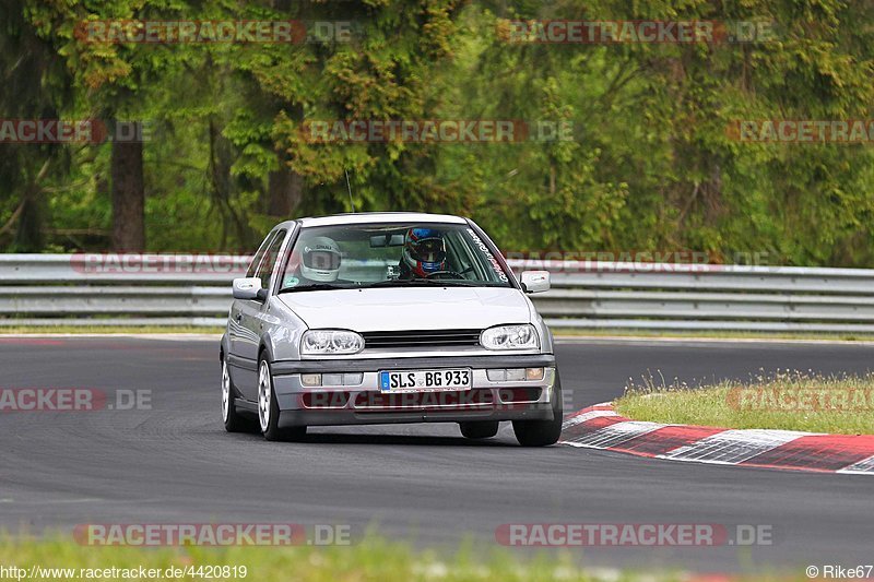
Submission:
POLYGON ((874 436, 663 425, 619 416, 611 403, 583 408, 562 444, 721 465, 874 475, 874 436))

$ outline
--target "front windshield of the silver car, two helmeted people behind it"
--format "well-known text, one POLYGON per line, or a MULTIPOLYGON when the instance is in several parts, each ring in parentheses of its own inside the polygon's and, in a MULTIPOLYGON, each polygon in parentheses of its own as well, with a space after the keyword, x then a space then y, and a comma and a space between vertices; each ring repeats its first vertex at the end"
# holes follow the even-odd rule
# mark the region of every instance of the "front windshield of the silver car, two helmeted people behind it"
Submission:
POLYGON ((304 227, 280 293, 404 286, 510 287, 485 241, 460 224, 304 227))

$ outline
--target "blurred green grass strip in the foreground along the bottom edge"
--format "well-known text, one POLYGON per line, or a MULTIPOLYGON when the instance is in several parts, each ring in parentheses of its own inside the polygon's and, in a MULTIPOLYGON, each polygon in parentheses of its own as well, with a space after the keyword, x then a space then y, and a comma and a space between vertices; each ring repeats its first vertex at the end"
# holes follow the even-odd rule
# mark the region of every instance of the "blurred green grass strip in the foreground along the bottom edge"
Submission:
MULTIPOLYGON (((409 546, 367 537, 352 546, 294 547, 88 547, 60 536, 33 539, 4 536, 0 539, 0 566, 27 570, 24 579, 34 580, 121 580, 120 570, 140 567, 160 571, 155 580, 302 580, 312 582, 409 580, 529 580, 594 581, 605 578, 587 572, 569 556, 554 554, 520 560, 509 551, 483 556, 472 549, 460 550, 450 560, 434 553, 416 553, 409 546), (38 575, 31 578, 31 568, 38 575), (218 568, 216 571, 215 568, 218 568), (229 569, 224 569, 228 567, 229 569), (231 570, 236 567, 236 570, 231 570), (241 567, 246 568, 245 575, 241 567), (66 573, 52 568, 72 569, 66 573), (116 568, 111 572, 107 569, 116 568), (191 568, 189 575, 168 577, 168 568, 191 568), (99 571, 99 573, 97 573, 99 571), (200 572, 200 574, 198 574, 200 572), (71 573, 73 575, 67 575, 71 573), (215 575, 206 577, 205 573, 215 575), (54 575, 52 575, 54 574, 54 575)), ((9 573, 9 571, 7 571, 9 573)), ((5 577, 16 579, 15 575, 5 577)), ((677 573, 643 574, 626 572, 612 580, 672 581, 682 580, 677 573)), ((786 580, 784 578, 782 580, 786 580)))

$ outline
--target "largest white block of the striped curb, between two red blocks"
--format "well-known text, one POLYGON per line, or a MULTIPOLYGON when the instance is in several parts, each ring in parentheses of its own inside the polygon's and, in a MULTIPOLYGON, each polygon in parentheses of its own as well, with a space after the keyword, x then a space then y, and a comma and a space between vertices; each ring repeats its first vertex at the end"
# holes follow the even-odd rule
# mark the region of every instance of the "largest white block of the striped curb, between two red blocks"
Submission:
POLYGON ((794 430, 725 430, 657 456, 735 465, 808 435, 794 430))

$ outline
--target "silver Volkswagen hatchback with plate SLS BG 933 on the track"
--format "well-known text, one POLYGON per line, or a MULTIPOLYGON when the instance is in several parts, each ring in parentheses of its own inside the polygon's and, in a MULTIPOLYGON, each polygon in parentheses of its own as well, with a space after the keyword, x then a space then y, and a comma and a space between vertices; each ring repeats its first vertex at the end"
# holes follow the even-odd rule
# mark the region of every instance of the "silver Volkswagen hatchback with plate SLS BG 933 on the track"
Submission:
POLYGON ((562 431, 553 337, 472 221, 364 213, 287 221, 267 236, 222 336, 228 431, 294 440, 308 426, 458 423, 472 439, 511 420, 520 444, 562 431))

